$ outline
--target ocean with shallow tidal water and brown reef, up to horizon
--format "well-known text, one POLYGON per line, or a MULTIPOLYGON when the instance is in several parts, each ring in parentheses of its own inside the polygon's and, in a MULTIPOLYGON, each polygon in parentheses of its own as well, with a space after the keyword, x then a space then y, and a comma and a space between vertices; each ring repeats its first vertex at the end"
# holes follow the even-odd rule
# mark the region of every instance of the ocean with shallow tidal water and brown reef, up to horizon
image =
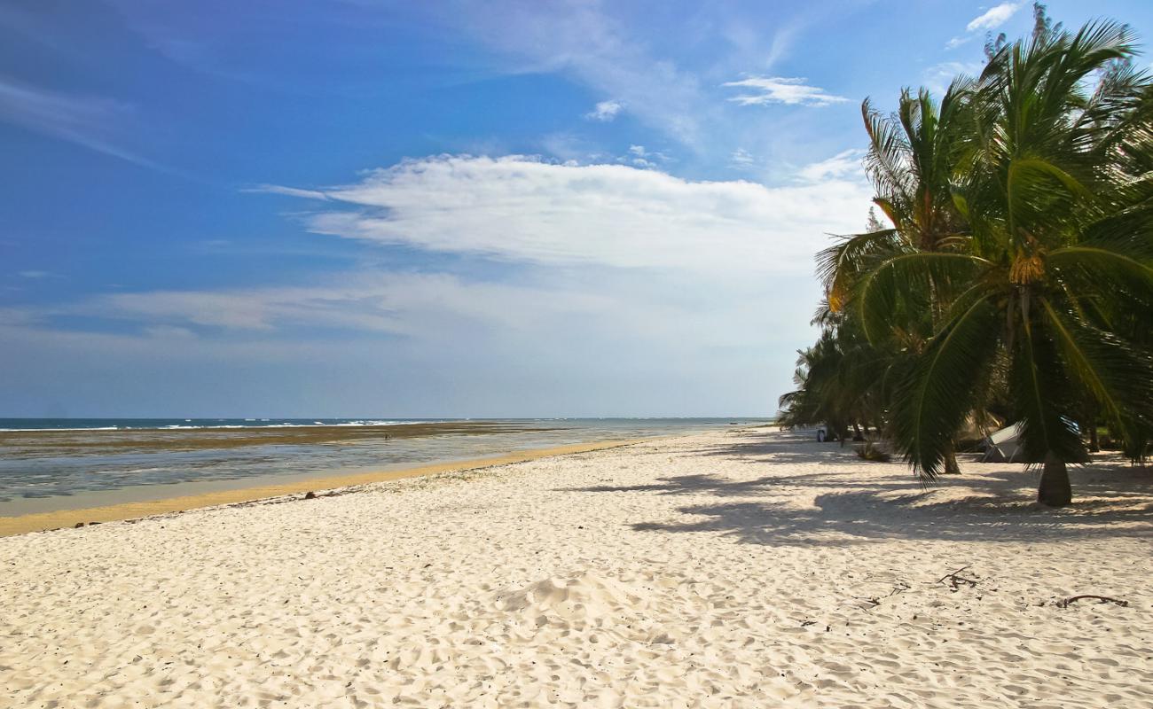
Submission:
POLYGON ((768 418, 0 418, 0 516, 768 418))

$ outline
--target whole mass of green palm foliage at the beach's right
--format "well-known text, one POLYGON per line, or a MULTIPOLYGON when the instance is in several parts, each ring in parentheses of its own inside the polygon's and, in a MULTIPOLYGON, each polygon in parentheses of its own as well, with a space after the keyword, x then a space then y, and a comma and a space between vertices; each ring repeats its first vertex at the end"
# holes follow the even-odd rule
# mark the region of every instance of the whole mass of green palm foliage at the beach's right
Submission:
POLYGON ((820 387, 800 418, 871 421, 927 478, 990 407, 1023 424, 1032 462, 1087 460, 1079 429, 1098 420, 1143 459, 1153 81, 1126 25, 1070 32, 1039 3, 1031 38, 989 50, 940 104, 924 89, 891 116, 862 104, 865 168, 892 228, 873 217, 819 254, 820 367, 783 406, 820 387))

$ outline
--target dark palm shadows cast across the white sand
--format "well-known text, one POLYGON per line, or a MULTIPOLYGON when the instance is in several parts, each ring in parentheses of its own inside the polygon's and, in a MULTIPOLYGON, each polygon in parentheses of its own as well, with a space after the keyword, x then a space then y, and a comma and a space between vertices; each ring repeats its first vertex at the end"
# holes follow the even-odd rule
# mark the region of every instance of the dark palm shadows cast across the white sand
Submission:
POLYGON ((1010 469, 1004 465, 989 466, 986 472, 985 466, 973 463, 959 477, 926 487, 894 465, 869 469, 876 463, 860 461, 852 448, 839 448, 837 444, 744 440, 687 451, 683 455, 728 457, 762 463, 769 475, 732 480, 711 473, 691 473, 649 484, 605 484, 564 491, 692 497, 692 504, 677 511, 692 515, 693 520, 635 522, 630 527, 638 531, 722 533, 749 544, 1153 537, 1153 472, 1121 461, 1098 461, 1071 470, 1075 503, 1052 510, 1032 501, 1037 473, 1024 466, 1009 466, 1010 469), (828 465, 829 469, 791 472, 799 465, 813 463, 828 465), (806 492, 813 491, 815 497, 807 497, 806 492), (798 496, 812 499, 812 506, 798 504, 798 496), (719 499, 709 501, 709 498, 719 499))

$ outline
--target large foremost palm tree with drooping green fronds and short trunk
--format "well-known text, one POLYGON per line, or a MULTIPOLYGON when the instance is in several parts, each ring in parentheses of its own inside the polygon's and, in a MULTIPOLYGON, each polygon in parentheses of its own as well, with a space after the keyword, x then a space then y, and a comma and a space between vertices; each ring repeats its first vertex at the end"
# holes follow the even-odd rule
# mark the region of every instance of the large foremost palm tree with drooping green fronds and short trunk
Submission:
POLYGON ((1071 499, 1091 402, 1135 443, 1153 430, 1153 88, 1129 30, 1090 24, 1001 48, 966 89, 950 191, 964 239, 902 244, 854 273, 866 335, 929 312, 892 406, 895 443, 934 478, 998 361, 1039 500, 1071 499), (1144 338, 1144 340, 1143 340, 1144 338))

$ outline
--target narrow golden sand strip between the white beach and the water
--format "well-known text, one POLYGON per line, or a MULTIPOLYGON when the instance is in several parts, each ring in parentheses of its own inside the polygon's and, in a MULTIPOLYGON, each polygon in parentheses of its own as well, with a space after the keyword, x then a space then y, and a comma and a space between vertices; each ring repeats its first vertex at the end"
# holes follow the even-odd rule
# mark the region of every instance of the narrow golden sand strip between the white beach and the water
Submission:
POLYGON ((116 505, 86 507, 81 510, 59 510, 54 512, 22 514, 18 516, 0 516, 0 537, 27 534, 29 531, 59 529, 61 527, 75 527, 81 522, 116 522, 121 520, 153 516, 157 514, 183 512, 186 510, 196 510, 199 507, 250 503, 254 500, 280 497, 285 495, 301 495, 319 490, 334 490, 337 488, 349 488, 353 485, 387 482, 406 477, 420 477, 422 475, 476 470, 480 468, 506 466, 514 462, 538 460, 541 458, 551 458, 555 455, 571 455, 574 453, 587 453, 589 451, 603 451, 606 448, 633 445, 643 440, 653 440, 653 438, 581 443, 551 448, 534 448, 493 458, 458 460, 453 462, 434 463, 399 470, 379 470, 375 473, 355 473, 351 475, 311 477, 274 485, 242 488, 239 490, 217 490, 214 492, 205 492, 203 495, 171 497, 158 500, 121 503, 116 505))

